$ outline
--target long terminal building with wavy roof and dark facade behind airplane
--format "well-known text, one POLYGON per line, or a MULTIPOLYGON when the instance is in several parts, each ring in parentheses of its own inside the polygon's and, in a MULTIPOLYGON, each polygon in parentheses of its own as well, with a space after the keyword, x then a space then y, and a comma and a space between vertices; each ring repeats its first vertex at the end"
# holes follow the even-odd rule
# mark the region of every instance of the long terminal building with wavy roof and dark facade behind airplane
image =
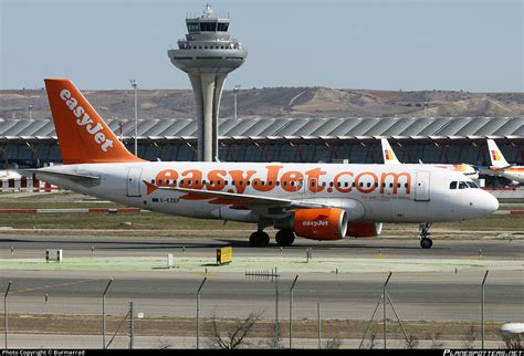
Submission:
MULTIPOLYGON (((135 121, 106 123, 133 151, 135 121)), ((378 137, 388 137, 404 163, 488 167, 486 137, 496 140, 509 163, 524 161, 524 117, 228 118, 219 123, 219 159, 379 164, 378 137)), ((61 163, 51 119, 0 119, 0 153, 3 167, 61 163)), ((197 121, 140 119, 138 156, 196 160, 197 121)))

